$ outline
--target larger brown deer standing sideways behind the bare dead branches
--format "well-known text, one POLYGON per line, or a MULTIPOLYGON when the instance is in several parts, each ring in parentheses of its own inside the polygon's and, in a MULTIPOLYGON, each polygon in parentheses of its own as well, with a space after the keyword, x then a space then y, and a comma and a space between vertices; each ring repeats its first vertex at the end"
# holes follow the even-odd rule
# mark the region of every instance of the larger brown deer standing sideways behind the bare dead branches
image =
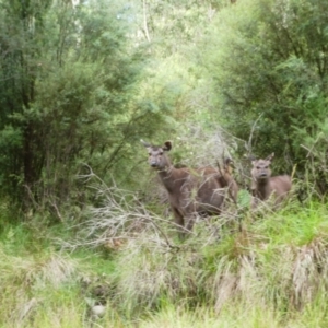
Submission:
POLYGON ((200 168, 176 168, 171 164, 166 152, 172 149, 172 142, 164 145, 151 145, 141 141, 148 149, 149 164, 159 173, 171 204, 179 236, 184 237, 192 230, 197 214, 220 214, 225 199, 224 187, 231 189, 231 198, 235 201, 237 185, 230 173, 220 174, 211 166, 200 168))

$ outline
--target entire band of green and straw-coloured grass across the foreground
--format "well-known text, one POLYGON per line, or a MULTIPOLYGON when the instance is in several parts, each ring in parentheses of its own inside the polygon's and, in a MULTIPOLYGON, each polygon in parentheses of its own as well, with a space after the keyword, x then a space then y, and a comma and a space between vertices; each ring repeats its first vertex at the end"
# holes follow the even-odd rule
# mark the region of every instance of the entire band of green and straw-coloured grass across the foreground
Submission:
POLYGON ((292 202, 247 215, 241 232, 225 229, 224 219, 200 222, 184 243, 167 222, 156 221, 159 232, 148 218, 138 233, 120 231, 117 248, 106 246, 113 236, 104 238, 104 231, 83 232, 84 244, 77 230, 7 224, 0 326, 327 327, 326 206, 292 202), (92 315, 97 304, 104 317, 92 315))

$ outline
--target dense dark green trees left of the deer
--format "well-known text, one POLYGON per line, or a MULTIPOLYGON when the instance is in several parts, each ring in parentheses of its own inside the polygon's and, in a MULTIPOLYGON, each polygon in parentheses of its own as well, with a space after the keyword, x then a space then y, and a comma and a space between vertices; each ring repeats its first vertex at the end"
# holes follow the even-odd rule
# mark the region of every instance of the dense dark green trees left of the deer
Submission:
POLYGON ((161 124, 138 98, 147 57, 130 43, 134 14, 119 1, 3 0, 0 17, 2 196, 60 216, 83 194, 82 163, 126 176, 131 144, 161 124))

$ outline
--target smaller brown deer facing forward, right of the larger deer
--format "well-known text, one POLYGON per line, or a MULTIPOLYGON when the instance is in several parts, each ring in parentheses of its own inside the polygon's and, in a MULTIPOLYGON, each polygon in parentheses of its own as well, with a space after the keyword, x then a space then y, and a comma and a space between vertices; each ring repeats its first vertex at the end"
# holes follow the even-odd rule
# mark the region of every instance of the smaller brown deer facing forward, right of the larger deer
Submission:
POLYGON ((270 164, 274 153, 266 160, 251 161, 251 209, 255 209, 260 201, 266 201, 273 195, 274 207, 277 208, 288 196, 292 188, 292 179, 289 175, 271 177, 270 164))

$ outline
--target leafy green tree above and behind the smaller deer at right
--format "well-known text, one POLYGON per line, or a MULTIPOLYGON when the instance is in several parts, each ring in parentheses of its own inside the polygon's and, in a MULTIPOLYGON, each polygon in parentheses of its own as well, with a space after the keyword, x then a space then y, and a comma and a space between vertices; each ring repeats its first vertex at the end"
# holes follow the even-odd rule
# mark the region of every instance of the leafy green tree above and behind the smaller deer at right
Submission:
POLYGON ((304 134, 325 133, 326 11, 316 0, 246 0, 218 14, 203 60, 225 126, 245 141, 253 133, 241 153, 274 151, 285 159, 281 168, 297 163, 304 173, 304 134))

